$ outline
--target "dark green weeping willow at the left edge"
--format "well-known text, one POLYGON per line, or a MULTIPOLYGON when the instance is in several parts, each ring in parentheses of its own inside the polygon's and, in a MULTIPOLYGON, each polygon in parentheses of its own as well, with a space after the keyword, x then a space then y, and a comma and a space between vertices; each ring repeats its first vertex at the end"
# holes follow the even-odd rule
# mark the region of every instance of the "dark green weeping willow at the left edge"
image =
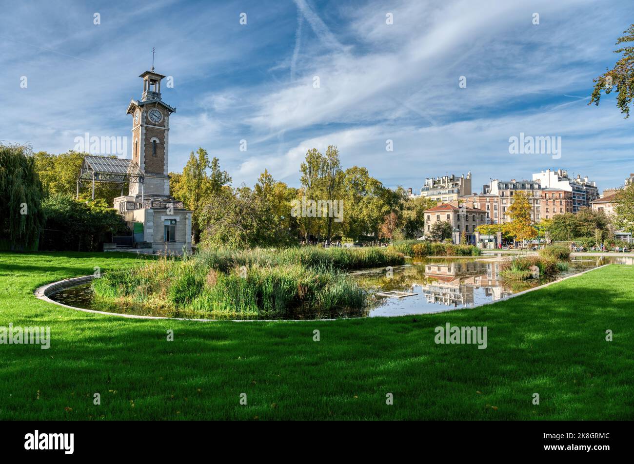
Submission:
POLYGON ((28 146, 0 145, 0 229, 16 245, 35 242, 44 225, 42 183, 28 146))

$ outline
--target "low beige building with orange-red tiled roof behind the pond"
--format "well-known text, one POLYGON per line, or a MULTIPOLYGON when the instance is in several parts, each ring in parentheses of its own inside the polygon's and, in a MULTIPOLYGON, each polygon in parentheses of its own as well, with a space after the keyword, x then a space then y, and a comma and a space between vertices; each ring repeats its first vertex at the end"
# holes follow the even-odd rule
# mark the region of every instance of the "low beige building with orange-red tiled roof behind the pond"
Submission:
POLYGON ((431 232, 436 222, 443 221, 451 224, 453 243, 460 243, 464 232, 467 241, 475 245, 475 228, 486 224, 486 212, 464 203, 458 206, 457 200, 454 203, 441 203, 425 210, 425 235, 431 232))

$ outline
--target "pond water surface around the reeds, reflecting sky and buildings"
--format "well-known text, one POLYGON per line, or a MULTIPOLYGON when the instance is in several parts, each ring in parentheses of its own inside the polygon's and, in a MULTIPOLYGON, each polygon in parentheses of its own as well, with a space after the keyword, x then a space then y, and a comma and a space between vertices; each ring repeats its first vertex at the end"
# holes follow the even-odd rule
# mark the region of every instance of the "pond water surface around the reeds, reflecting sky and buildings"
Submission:
MULTIPOLYGON (((508 255, 507 255, 508 256, 508 255)), ((436 313, 462 307, 475 307, 484 303, 505 299, 548 281, 577 274, 603 264, 634 264, 634 257, 573 257, 568 269, 553 278, 529 281, 505 280, 500 277, 503 258, 495 252, 479 259, 427 259, 408 260, 404 266, 393 268, 365 269, 350 273, 361 287, 370 293, 370 306, 362 314, 354 316, 403 316, 410 314, 436 313), (413 296, 394 298, 380 297, 377 293, 398 290, 416 293, 413 296)), ((89 283, 65 288, 49 297, 68 306, 107 311, 119 314, 143 316, 168 316, 191 318, 193 316, 174 311, 170 314, 154 314, 141 306, 111 306, 93 299, 89 283)), ((342 314, 341 317, 350 316, 342 314)), ((314 314, 298 314, 297 319, 314 319, 314 314)))

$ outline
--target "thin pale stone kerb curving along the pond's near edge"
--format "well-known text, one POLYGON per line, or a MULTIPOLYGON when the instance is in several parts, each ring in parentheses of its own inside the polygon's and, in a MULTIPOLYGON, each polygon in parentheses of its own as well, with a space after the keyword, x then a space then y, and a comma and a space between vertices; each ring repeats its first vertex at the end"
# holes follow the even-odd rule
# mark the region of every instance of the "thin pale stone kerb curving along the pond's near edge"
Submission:
MULTIPOLYGON (((589 273, 592 271, 596 271, 597 269, 601 269, 602 267, 610 266, 610 264, 603 264, 602 266, 593 267, 592 269, 587 269, 586 271, 581 271, 578 274, 573 274, 571 276, 566 276, 557 280, 553 280, 552 282, 547 282, 543 285, 538 285, 537 287, 529 288, 528 290, 523 290, 519 293, 514 293, 513 295, 509 295, 505 299, 489 301, 486 303, 479 304, 477 306, 471 307, 460 307, 455 309, 444 309, 441 311, 433 311, 431 313, 422 313, 422 314, 400 314, 400 316, 424 316, 424 314, 438 314, 438 313, 448 313, 450 311, 460 311, 461 309, 474 309, 476 307, 486 306, 489 304, 495 304, 500 301, 505 301, 511 298, 519 297, 520 295, 524 295, 525 293, 534 292, 535 290, 540 290, 540 288, 546 288, 555 283, 564 281, 566 279, 571 279, 573 277, 580 276, 581 274, 589 273)), ((120 316, 122 318, 131 318, 131 319, 171 319, 176 321, 197 321, 197 322, 219 322, 219 321, 231 321, 231 322, 314 322, 314 321, 338 321, 338 320, 346 320, 346 319, 363 319, 363 318, 331 318, 331 319, 193 319, 193 318, 166 318, 163 316, 141 316, 139 314, 121 314, 121 313, 108 313, 107 311, 96 311, 96 309, 85 309, 81 307, 68 306, 67 304, 60 303, 53 299, 50 299, 48 295, 57 290, 61 290, 62 288, 75 287, 75 285, 81 285, 82 283, 87 283, 93 280, 95 277, 93 275, 89 276, 81 276, 81 277, 73 277, 70 279, 60 280, 53 283, 48 283, 46 285, 42 285, 34 292, 34 295, 40 299, 49 303, 56 304, 58 306, 63 306, 68 309, 75 309, 75 311, 84 311, 84 313, 93 313, 93 314, 104 314, 105 316, 120 316)), ((391 316, 380 316, 380 317, 391 317, 391 316)), ((396 316, 395 316, 396 317, 396 316)))

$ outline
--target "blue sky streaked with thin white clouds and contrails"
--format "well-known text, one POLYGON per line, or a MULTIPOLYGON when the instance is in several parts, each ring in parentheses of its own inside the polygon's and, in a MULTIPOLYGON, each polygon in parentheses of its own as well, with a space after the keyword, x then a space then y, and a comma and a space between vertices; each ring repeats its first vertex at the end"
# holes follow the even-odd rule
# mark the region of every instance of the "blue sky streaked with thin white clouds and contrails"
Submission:
POLYGON ((479 191, 561 167, 603 189, 634 172, 634 119, 613 97, 587 105, 634 23, 631 1, 0 0, 0 11, 0 140, 36 151, 68 151, 85 132, 130 136, 126 109, 155 46, 157 72, 174 78, 162 89, 177 108, 171 171, 202 146, 235 186, 265 168, 297 186, 306 150, 332 144, 344 167, 392 188, 472 171, 479 191), (561 158, 511 155, 520 132, 560 136, 561 158))

